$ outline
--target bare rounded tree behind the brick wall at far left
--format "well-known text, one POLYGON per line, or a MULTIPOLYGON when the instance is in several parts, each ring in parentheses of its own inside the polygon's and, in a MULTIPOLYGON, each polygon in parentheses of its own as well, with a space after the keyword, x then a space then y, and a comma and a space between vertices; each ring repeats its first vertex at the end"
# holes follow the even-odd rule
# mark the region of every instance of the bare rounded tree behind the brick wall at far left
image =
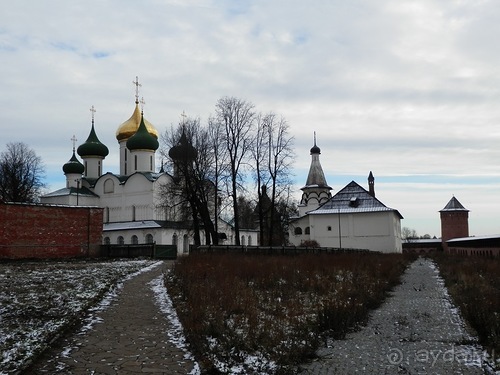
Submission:
POLYGON ((8 143, 0 154, 0 200, 36 202, 45 187, 42 159, 25 143, 8 143))

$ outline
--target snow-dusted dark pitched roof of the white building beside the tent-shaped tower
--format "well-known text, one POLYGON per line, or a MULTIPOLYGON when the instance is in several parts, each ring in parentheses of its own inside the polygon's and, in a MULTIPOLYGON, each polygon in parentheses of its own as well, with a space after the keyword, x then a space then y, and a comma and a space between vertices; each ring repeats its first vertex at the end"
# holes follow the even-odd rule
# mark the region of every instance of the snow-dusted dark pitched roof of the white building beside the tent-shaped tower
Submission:
POLYGON ((354 181, 347 184, 342 190, 330 198, 328 202, 318 207, 309 214, 334 214, 334 213, 356 213, 356 212, 382 212, 394 211, 401 219, 403 216, 393 209, 387 207, 374 198, 363 187, 354 181))

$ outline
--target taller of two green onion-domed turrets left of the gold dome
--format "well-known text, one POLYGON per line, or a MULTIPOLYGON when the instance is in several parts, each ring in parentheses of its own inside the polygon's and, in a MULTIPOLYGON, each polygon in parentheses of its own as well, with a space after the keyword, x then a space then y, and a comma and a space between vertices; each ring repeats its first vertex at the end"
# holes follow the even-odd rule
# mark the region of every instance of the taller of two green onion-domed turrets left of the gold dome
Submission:
POLYGON ((90 129, 90 134, 85 141, 78 147, 78 155, 83 159, 85 165, 85 177, 87 178, 98 178, 102 175, 102 163, 106 156, 108 156, 109 150, 99 141, 97 134, 94 129, 94 113, 96 110, 94 106, 90 108, 92 112, 92 127, 90 129))

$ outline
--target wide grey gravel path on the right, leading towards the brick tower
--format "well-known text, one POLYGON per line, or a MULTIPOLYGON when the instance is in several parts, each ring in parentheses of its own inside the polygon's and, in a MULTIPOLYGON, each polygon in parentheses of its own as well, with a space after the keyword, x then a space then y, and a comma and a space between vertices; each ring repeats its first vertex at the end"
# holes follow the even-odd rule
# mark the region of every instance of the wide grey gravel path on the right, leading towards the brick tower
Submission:
POLYGON ((366 327, 331 341, 302 374, 484 374, 485 353, 467 333, 434 263, 415 261, 366 327))

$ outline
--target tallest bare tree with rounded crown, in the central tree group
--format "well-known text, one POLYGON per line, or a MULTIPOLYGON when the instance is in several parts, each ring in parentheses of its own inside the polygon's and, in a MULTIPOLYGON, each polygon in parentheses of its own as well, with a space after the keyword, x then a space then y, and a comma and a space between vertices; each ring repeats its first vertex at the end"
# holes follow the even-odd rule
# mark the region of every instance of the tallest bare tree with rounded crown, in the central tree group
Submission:
POLYGON ((242 180, 241 167, 253 146, 254 106, 241 99, 223 97, 215 105, 215 118, 224 125, 224 145, 227 149, 230 168, 228 190, 233 203, 236 245, 240 245, 238 188, 242 180))

